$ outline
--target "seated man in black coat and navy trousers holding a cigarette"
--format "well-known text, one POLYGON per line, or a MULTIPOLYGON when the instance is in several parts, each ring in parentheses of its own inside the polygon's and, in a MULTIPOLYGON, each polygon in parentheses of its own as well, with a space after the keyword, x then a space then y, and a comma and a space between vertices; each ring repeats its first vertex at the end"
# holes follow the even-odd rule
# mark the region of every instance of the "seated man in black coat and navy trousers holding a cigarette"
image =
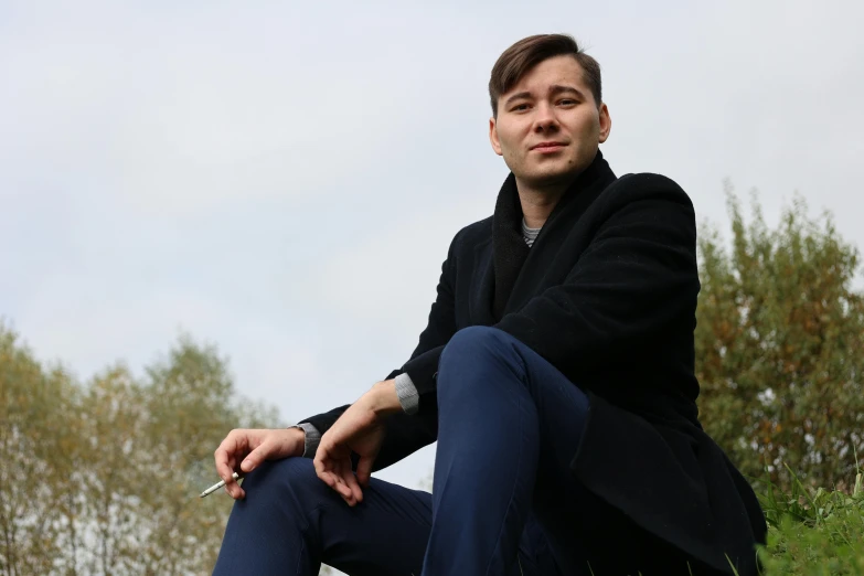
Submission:
POLYGON ((228 434, 215 574, 756 574, 761 510, 697 419, 690 199, 612 173, 599 66, 569 36, 509 47, 489 92, 494 214, 455 236, 402 369, 228 434), (436 439, 434 494, 371 478, 436 439))

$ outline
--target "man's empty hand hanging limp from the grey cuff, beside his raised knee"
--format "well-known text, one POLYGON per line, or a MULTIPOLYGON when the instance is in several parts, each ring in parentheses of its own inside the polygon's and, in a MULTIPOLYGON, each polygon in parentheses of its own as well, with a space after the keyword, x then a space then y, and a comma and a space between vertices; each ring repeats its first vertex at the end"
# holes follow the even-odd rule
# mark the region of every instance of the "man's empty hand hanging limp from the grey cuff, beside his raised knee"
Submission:
POLYGON ((350 506, 363 500, 372 465, 384 440, 384 418, 402 410, 394 381, 378 382, 352 404, 321 437, 314 457, 318 478, 335 490, 350 506), (360 456, 358 473, 351 452, 360 456))

